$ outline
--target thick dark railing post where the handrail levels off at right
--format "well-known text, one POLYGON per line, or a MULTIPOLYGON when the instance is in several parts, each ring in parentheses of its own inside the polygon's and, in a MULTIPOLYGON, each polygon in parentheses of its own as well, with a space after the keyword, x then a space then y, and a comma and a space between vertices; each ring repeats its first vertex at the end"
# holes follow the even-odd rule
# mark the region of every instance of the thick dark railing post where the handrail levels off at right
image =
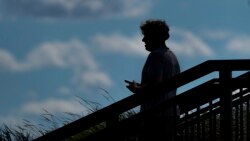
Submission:
POLYGON ((232 141, 232 90, 230 80, 231 70, 223 69, 219 72, 221 83, 221 141, 232 141))

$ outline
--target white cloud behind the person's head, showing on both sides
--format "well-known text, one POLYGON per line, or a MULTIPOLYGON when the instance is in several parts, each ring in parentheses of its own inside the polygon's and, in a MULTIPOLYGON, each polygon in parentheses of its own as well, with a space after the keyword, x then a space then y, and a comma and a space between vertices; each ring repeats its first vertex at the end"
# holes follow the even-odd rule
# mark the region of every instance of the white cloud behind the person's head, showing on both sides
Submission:
MULTIPOLYGON (((187 57, 214 56, 213 50, 200 37, 190 31, 174 28, 173 37, 179 39, 169 39, 167 45, 179 55, 187 57)), ((94 37, 94 42, 106 53, 120 53, 123 55, 146 56, 148 52, 144 48, 142 37, 134 35, 131 37, 118 33, 109 35, 99 34, 94 37)))

